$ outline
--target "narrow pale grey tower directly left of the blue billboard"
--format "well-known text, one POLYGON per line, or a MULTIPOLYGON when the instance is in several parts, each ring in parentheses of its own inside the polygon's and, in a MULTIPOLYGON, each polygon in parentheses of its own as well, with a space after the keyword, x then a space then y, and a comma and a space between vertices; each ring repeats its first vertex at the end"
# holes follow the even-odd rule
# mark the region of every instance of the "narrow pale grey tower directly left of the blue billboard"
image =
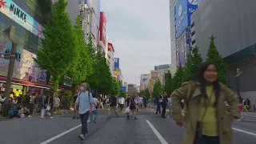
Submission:
POLYGON ((175 74, 177 70, 177 47, 176 47, 176 29, 175 29, 175 3, 177 0, 170 0, 170 55, 171 55, 171 66, 170 73, 175 74))

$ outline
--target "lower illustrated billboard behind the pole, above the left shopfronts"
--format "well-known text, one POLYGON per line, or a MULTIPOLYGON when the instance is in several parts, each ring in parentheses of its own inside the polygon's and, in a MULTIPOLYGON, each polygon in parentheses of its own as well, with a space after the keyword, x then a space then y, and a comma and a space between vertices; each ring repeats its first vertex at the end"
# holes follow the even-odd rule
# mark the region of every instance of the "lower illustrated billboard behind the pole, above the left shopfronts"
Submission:
MULTIPOLYGON (((12 43, 0 36, 0 54, 10 53, 12 43)), ((24 50, 22 46, 17 46, 16 61, 14 62, 13 78, 22 79, 28 82, 46 83, 46 70, 42 70, 34 62, 35 54, 24 50)), ((9 67, 9 59, 0 58, 0 75, 6 77, 9 67)))

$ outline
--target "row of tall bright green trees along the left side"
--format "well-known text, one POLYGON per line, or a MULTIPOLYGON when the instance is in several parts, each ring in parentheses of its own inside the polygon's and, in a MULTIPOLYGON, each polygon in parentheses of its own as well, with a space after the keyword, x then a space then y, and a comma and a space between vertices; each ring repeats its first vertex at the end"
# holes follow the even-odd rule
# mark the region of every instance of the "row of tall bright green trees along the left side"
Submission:
POLYGON ((119 94, 120 82, 111 76, 103 54, 97 53, 92 42, 86 44, 80 18, 72 26, 66 13, 67 2, 53 4, 51 20, 44 27, 42 48, 34 60, 51 76, 52 91, 57 92, 61 79, 73 79, 73 87, 89 82, 90 88, 101 94, 119 94))

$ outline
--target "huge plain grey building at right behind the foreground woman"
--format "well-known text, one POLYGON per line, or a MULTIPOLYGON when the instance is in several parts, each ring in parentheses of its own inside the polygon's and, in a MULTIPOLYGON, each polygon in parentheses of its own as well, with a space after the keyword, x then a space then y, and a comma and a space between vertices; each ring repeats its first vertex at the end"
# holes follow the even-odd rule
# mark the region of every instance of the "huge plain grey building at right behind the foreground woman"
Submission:
POLYGON ((209 37, 214 34, 215 46, 228 65, 227 85, 234 91, 239 86, 242 98, 250 98, 250 102, 256 100, 255 7, 255 1, 203 0, 194 12, 195 40, 202 58, 206 59, 209 37), (238 68, 242 74, 237 81, 238 68))

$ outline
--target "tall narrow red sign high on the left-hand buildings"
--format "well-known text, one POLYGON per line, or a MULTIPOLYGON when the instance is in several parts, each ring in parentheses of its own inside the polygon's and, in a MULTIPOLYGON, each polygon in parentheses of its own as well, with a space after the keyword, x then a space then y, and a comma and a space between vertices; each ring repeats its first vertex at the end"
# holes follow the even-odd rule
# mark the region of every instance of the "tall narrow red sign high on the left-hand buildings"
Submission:
POLYGON ((106 46, 106 17, 103 12, 100 13, 99 40, 106 46))

